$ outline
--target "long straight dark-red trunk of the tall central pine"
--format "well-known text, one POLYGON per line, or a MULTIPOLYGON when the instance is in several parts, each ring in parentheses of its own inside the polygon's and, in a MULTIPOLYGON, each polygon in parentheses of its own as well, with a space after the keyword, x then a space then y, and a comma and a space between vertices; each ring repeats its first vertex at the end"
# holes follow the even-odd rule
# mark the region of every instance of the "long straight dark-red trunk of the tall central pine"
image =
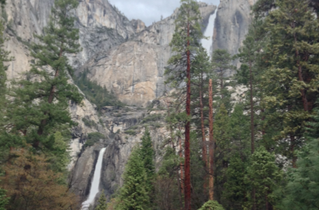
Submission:
MULTIPOLYGON (((190 23, 187 25, 187 36, 190 37, 190 23)), ((187 94, 186 94, 186 114, 190 117, 190 40, 187 41, 187 94)), ((190 210, 191 186, 190 186, 190 118, 185 125, 185 210, 190 210)))

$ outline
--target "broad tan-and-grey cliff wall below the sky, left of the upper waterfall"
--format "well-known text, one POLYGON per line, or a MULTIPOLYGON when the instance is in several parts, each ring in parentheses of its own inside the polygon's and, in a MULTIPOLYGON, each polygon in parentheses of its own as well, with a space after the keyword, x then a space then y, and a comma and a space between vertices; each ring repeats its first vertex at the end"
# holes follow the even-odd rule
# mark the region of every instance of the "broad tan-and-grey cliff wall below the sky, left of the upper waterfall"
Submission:
MULTIPOLYGON (((199 5, 207 26, 216 6, 199 5)), ((169 43, 175 31, 177 12, 110 51, 94 55, 81 70, 88 69, 90 79, 112 90, 120 101, 145 107, 166 90, 164 68, 171 56, 169 43)))

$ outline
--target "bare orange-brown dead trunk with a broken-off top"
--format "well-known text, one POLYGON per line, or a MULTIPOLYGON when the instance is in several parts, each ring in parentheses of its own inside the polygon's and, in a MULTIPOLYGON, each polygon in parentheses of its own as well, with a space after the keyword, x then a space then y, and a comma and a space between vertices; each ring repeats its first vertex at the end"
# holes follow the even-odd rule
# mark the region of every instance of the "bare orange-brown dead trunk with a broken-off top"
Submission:
POLYGON ((214 147, 213 85, 209 79, 209 200, 214 200, 214 147))

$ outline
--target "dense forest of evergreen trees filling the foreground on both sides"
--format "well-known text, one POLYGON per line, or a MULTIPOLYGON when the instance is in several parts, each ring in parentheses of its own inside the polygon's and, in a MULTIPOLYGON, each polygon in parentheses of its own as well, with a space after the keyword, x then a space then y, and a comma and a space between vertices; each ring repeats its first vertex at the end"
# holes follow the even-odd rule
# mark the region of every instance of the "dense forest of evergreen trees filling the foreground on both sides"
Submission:
MULTIPOLYGON (((10 85, 5 62, 14 57, 0 23, 0 210, 81 209, 66 169, 75 125, 68 105, 84 99, 71 77, 98 111, 124 106, 88 70, 73 75, 67 55, 80 51, 79 30, 68 14, 77 5, 55 0, 30 45, 31 69, 10 85)), ((214 49, 209 57, 199 5, 181 0, 162 157, 155 160, 146 127, 123 185, 110 199, 102 192, 94 209, 319 209, 319 3, 258 0, 251 12, 238 55, 214 49)))

